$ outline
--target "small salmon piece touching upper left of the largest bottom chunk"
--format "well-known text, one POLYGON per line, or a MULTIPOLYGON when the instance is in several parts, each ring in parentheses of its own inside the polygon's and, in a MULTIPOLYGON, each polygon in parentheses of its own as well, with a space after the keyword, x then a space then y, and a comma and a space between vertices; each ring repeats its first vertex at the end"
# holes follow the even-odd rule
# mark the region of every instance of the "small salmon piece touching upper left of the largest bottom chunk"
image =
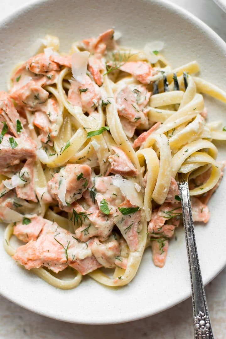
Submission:
POLYGON ((31 240, 36 240, 45 225, 45 219, 37 216, 36 214, 28 215, 25 217, 28 224, 23 223, 23 221, 16 222, 16 225, 13 228, 13 234, 20 240, 24 242, 29 242, 31 240))

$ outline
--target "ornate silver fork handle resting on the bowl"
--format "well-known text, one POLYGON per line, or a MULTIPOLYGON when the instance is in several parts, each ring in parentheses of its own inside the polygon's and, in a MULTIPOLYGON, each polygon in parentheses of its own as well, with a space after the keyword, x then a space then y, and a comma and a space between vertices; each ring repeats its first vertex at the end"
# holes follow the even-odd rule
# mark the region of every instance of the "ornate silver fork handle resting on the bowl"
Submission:
POLYGON ((185 228, 185 239, 191 280, 191 297, 194 317, 194 338, 213 339, 212 328, 206 303, 206 296, 199 266, 199 258, 194 236, 194 225, 191 214, 191 203, 187 181, 179 184, 182 214, 185 228))

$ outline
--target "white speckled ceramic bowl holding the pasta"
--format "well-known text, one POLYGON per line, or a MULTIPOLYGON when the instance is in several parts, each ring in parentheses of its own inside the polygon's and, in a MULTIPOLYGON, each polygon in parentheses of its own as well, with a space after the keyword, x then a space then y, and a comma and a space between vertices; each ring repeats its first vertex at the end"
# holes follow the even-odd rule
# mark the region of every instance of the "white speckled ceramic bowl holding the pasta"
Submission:
MULTIPOLYGON (((109 27, 123 34, 122 43, 142 47, 151 40, 165 41, 164 54, 173 66, 193 59, 201 76, 226 90, 226 44, 208 26, 181 8, 157 0, 48 0, 23 7, 0 23, 0 88, 12 67, 30 56, 30 46, 45 34, 60 38, 67 51, 74 40, 98 35, 109 27)), ((225 120, 225 105, 206 99, 209 119, 225 120)), ((225 143, 216 143, 219 159, 225 158, 225 143)), ((223 178, 209 208, 207 225, 195 227, 203 281, 206 284, 226 265, 225 200, 223 178)), ((0 225, 3 241, 4 226, 0 225)), ((86 324, 107 324, 146 317, 175 305, 190 295, 184 232, 170 241, 164 268, 153 265, 151 251, 145 252, 133 281, 116 290, 84 278, 74 290, 62 291, 17 266, 0 246, 0 294, 39 314, 86 324)))

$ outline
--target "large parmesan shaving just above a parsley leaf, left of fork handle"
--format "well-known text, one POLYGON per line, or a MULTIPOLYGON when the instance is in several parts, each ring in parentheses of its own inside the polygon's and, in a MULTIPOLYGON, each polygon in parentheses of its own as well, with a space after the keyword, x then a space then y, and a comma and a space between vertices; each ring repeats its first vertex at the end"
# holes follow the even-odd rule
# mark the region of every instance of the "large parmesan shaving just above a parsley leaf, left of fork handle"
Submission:
POLYGON ((121 175, 112 176, 113 185, 120 188, 123 195, 130 201, 132 205, 143 207, 142 194, 138 194, 134 183, 131 180, 123 179, 121 175))

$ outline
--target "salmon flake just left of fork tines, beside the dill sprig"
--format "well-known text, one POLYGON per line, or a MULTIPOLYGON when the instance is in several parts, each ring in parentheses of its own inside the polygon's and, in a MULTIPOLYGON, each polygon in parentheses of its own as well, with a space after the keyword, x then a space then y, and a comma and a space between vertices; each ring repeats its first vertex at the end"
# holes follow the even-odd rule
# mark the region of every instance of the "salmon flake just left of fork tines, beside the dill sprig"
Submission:
POLYGON ((153 75, 156 74, 155 69, 145 61, 128 61, 120 66, 119 69, 131 74, 143 84, 149 84, 153 75))

